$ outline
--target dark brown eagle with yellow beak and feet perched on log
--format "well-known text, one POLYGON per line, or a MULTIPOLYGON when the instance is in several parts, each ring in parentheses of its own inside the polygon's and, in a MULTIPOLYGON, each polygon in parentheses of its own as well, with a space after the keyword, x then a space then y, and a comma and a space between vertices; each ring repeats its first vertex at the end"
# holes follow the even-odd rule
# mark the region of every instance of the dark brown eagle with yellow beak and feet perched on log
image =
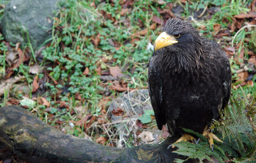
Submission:
POLYGON ((231 78, 227 55, 218 43, 201 37, 189 22, 170 18, 148 64, 148 92, 157 127, 161 130, 167 124, 170 134, 179 134, 175 143, 198 143, 182 128, 199 132, 213 150, 213 139, 222 141, 209 127, 227 106, 231 78))

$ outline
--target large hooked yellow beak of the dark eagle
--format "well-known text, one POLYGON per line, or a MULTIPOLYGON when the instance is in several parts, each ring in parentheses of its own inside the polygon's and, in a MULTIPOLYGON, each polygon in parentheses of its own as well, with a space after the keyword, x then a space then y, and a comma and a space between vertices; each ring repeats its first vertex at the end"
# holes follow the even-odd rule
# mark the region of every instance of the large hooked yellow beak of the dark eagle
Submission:
POLYGON ((154 48, 155 52, 156 50, 159 50, 165 46, 173 45, 177 43, 177 39, 175 39, 173 36, 170 36, 166 32, 162 32, 155 41, 154 48))

